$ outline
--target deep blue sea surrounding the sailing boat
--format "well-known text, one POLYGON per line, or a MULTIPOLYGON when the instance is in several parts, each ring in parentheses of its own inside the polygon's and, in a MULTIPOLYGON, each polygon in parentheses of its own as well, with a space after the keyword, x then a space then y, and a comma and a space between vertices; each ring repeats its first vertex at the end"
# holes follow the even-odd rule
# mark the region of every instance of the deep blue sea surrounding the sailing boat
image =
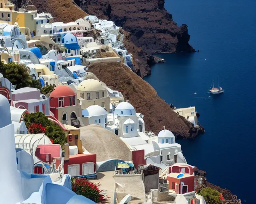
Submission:
POLYGON ((166 63, 154 65, 145 80, 166 102, 200 113, 204 135, 178 141, 188 163, 255 204, 256 1, 166 0, 165 8, 179 26, 188 25, 200 52, 158 55, 166 63), (209 97, 218 77, 225 92, 209 97))

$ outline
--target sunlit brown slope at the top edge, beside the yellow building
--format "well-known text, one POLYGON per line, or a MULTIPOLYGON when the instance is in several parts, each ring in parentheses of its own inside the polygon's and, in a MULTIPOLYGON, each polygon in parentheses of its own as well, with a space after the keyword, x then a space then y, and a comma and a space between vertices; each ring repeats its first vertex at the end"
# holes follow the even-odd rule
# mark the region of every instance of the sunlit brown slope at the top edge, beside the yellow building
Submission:
POLYGON ((54 22, 68 23, 88 16, 72 0, 32 0, 32 3, 38 9, 38 13, 52 14, 54 22))

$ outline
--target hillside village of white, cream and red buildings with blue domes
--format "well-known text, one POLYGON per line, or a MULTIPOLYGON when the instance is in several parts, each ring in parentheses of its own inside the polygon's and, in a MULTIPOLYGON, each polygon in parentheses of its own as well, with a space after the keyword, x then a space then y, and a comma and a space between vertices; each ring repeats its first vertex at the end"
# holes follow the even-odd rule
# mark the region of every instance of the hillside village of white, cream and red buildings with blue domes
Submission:
MULTIPOLYGON (((121 27, 97 16, 54 22, 7 0, 0 13, 1 66, 20 65, 40 85, 20 88, 0 73, 0 203, 95 203, 74 192, 72 179, 86 178, 100 182, 104 203, 206 204, 197 194, 205 177, 171 127, 148 131, 125 93, 97 76, 112 75, 102 63, 134 74, 121 27)), ((195 107, 168 108, 201 128, 195 107)))

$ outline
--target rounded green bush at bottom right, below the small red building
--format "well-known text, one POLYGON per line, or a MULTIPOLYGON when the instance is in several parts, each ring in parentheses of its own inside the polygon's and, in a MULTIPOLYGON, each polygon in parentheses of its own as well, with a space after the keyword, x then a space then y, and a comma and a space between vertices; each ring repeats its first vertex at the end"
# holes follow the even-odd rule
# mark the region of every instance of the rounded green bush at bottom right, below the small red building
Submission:
POLYGON ((206 201, 207 204, 221 204, 222 201, 220 200, 220 193, 212 189, 210 187, 203 188, 198 192, 200 196, 204 197, 204 200, 206 201))

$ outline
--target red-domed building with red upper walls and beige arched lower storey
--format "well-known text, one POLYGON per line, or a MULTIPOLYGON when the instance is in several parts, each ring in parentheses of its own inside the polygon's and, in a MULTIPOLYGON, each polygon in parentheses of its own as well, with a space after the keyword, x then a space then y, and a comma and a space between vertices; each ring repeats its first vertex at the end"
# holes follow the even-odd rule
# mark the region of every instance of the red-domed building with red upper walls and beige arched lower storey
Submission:
POLYGON ((63 124, 72 125, 72 119, 82 116, 80 104, 77 104, 76 93, 69 86, 59 85, 50 94, 50 111, 63 124))

